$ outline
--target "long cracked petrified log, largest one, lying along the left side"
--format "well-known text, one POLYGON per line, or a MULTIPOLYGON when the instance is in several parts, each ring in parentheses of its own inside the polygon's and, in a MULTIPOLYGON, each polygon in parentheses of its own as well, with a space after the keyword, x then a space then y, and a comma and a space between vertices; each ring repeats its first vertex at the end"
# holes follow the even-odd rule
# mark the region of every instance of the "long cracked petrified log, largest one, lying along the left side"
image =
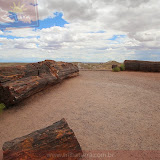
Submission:
POLYGON ((72 63, 46 60, 24 66, 0 68, 0 103, 6 107, 43 90, 48 85, 79 74, 72 63))

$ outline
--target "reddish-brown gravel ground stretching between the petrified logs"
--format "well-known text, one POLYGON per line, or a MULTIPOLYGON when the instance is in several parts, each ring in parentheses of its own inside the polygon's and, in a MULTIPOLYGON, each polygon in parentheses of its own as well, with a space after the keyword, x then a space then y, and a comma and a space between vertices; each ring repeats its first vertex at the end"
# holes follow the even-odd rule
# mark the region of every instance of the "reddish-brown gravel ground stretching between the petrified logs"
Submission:
POLYGON ((160 73, 81 71, 0 116, 0 147, 65 118, 83 150, 160 150, 160 73))

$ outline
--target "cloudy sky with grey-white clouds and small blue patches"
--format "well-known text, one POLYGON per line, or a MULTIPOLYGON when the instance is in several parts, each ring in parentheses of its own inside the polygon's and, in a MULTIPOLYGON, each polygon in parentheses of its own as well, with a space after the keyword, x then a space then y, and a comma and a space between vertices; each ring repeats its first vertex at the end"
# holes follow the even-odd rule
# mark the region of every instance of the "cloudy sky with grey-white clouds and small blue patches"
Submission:
POLYGON ((39 27, 2 29, 7 3, 0 0, 0 62, 160 61, 159 0, 38 0, 30 5, 38 7, 39 27))

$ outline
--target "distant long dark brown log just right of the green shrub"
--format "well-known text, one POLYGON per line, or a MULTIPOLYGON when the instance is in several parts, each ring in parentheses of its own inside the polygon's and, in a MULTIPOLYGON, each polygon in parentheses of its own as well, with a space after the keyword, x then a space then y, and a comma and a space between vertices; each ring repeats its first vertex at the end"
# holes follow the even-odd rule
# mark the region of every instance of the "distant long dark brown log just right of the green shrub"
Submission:
POLYGON ((160 62, 126 60, 127 71, 160 72, 160 62))

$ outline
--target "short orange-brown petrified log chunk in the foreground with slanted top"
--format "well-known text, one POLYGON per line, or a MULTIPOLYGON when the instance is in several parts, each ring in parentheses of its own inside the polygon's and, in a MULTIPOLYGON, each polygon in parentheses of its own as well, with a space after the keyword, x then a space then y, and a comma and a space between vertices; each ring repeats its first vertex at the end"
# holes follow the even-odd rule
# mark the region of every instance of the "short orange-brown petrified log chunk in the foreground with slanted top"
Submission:
POLYGON ((78 160, 82 154, 65 119, 3 145, 3 160, 78 160))

